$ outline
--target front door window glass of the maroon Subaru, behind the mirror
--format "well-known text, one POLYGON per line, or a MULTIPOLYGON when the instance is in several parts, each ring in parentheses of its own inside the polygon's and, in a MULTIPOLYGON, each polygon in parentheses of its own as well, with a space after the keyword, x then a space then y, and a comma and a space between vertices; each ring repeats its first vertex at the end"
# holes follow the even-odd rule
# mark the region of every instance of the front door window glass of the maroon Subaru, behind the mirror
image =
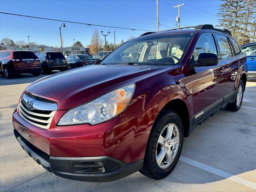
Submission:
POLYGON ((205 34, 201 36, 200 40, 196 45, 196 50, 194 51, 194 60, 198 59, 200 53, 214 53, 217 54, 216 45, 212 34, 205 34))

